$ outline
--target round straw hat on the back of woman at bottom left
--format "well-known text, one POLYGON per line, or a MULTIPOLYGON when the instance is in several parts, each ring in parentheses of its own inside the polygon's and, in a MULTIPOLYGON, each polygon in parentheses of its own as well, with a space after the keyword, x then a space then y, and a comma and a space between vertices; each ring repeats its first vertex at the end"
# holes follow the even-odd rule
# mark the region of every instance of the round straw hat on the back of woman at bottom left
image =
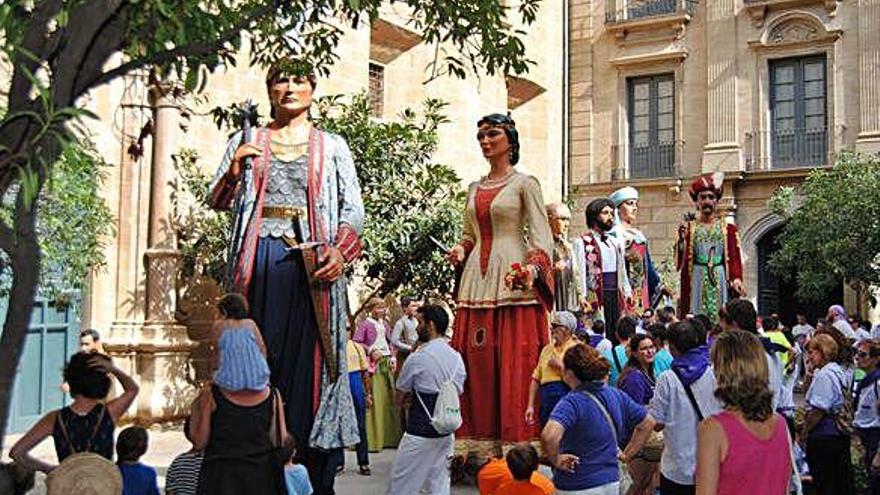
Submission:
POLYGON ((98 454, 74 454, 46 477, 48 495, 120 495, 122 475, 98 454))

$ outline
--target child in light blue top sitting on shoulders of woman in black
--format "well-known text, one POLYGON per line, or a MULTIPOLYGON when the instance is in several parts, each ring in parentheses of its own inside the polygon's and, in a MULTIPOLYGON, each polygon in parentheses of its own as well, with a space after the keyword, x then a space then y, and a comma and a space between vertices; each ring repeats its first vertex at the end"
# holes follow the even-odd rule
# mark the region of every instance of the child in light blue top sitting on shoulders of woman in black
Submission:
POLYGON ((217 303, 214 322, 219 363, 214 383, 229 391, 262 390, 269 384, 266 344, 254 320, 248 318, 244 296, 229 293, 217 303))

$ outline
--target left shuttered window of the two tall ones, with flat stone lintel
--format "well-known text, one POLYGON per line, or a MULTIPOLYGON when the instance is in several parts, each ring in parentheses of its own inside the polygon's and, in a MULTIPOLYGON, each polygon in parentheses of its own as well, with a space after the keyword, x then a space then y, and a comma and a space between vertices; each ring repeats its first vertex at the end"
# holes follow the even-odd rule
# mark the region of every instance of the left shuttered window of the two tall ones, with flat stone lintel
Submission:
POLYGON ((629 176, 675 175, 675 79, 672 74, 627 80, 629 176))

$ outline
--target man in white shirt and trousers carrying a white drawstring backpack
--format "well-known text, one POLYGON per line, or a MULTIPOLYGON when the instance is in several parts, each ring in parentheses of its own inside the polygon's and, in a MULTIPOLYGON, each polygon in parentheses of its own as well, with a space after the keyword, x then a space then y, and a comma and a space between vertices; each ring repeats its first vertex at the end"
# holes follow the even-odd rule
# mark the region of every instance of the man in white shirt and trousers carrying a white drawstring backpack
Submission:
POLYGON ((449 346, 449 315, 437 305, 417 310, 422 345, 397 377, 397 401, 409 399, 406 433, 391 468, 389 494, 448 494, 449 459, 461 425, 458 396, 467 373, 461 355, 449 346), (422 491, 424 490, 424 491, 422 491))

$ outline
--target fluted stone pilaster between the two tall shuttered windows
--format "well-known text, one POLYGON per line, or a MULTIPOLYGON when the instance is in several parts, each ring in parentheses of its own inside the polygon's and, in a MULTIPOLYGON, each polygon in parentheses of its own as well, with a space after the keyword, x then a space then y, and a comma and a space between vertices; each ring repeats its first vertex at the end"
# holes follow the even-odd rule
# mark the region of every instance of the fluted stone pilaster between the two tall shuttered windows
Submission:
POLYGON ((736 0, 703 2, 706 9, 708 139, 703 172, 740 170, 736 108, 736 0), (723 43, 711 40, 726 40, 723 43))

